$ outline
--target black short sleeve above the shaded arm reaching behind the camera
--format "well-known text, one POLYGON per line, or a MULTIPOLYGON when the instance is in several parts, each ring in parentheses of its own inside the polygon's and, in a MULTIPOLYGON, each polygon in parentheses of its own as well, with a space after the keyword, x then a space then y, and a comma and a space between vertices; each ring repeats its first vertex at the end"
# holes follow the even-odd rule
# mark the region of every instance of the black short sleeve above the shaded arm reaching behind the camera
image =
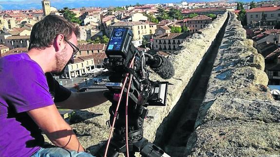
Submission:
POLYGON ((46 73, 46 76, 50 92, 53 92, 55 94, 55 103, 63 102, 70 97, 71 90, 59 85, 59 83, 53 78, 51 73, 46 73))

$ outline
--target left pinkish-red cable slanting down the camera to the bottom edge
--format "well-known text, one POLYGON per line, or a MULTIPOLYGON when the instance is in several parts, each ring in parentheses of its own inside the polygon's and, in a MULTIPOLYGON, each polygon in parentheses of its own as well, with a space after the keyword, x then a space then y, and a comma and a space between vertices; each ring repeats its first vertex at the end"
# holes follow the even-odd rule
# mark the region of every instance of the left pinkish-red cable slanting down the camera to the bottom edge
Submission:
MULTIPOLYGON (((129 66, 130 68, 132 67, 134 58, 135 58, 135 56, 132 58, 131 64, 129 66)), ((113 128, 114 128, 114 125, 115 125, 115 121, 116 121, 116 117, 117 117, 117 112, 118 112, 118 109, 119 109, 119 105, 120 105, 120 102, 121 102, 121 98, 122 98, 122 95, 123 95, 123 91, 124 91, 124 88, 125 88, 128 76, 129 76, 129 73, 126 74, 125 81, 124 81, 123 87, 121 89, 120 98, 119 98, 119 101, 118 101, 118 104, 117 104, 117 107, 116 107, 116 110, 115 110, 115 113, 114 113, 112 128, 111 128, 109 139, 108 139, 108 142, 107 142, 107 145, 106 145, 106 150, 105 150, 104 157, 107 157, 107 152, 108 152, 111 136, 112 136, 112 133, 113 133, 113 128)))

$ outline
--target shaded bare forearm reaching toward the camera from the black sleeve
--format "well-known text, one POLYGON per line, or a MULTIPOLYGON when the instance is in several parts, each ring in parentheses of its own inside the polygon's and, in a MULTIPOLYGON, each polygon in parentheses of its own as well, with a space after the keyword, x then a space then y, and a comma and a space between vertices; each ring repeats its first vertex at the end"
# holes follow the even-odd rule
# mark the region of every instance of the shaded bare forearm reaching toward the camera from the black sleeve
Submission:
POLYGON ((56 103, 56 106, 68 109, 85 109, 100 105, 107 101, 107 99, 103 96, 105 91, 107 90, 80 93, 71 92, 68 99, 63 102, 56 103))

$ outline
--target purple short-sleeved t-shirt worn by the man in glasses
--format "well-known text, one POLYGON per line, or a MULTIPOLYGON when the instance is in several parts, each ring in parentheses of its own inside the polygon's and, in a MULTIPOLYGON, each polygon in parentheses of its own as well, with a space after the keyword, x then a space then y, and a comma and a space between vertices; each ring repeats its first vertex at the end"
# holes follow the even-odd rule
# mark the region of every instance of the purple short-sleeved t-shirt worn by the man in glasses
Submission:
POLYGON ((27 53, 0 58, 0 157, 29 157, 44 139, 26 111, 53 105, 46 76, 27 53))

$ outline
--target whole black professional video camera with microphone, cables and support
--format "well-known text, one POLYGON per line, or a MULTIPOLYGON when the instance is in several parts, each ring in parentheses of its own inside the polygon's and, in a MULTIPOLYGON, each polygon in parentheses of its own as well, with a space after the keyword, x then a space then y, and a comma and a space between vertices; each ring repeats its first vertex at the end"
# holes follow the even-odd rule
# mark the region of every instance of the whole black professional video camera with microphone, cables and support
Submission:
POLYGON ((109 89, 104 96, 112 102, 109 109, 113 136, 107 146, 103 146, 97 157, 135 157, 140 152, 144 157, 169 157, 162 149, 143 138, 143 122, 147 117, 148 105, 166 105, 168 82, 149 80, 149 66, 163 78, 171 78, 174 68, 168 59, 161 55, 150 55, 138 51, 131 43, 132 31, 128 28, 113 29, 110 37, 104 66, 111 73, 105 86, 109 89), (129 81, 128 81, 129 79, 129 81), (123 96, 123 94, 125 95, 123 96), (110 143, 111 141, 111 143, 110 143))

